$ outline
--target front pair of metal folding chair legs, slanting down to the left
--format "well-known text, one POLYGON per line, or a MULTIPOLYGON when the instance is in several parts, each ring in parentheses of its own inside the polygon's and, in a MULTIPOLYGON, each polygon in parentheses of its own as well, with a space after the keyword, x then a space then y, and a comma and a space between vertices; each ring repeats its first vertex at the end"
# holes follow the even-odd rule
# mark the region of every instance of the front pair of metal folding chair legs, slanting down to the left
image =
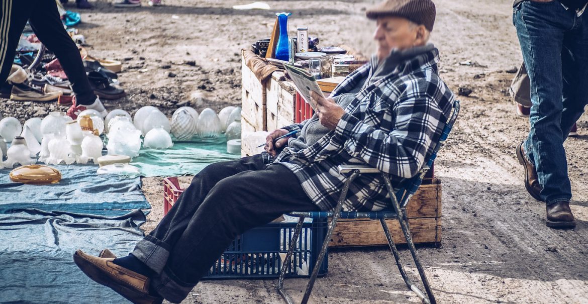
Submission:
MULTIPOLYGON (((333 212, 333 218, 331 219, 331 222, 329 225, 329 230, 327 231, 327 235, 325 236, 325 241, 323 242, 323 246, 320 249, 319 256, 316 259, 315 268, 312 269, 312 274, 310 275, 310 280, 308 281, 308 285, 306 285, 304 297, 302 298, 302 302, 300 302, 301 304, 306 304, 308 302, 308 299, 310 298, 310 293, 312 292, 312 288, 315 286, 316 277, 319 275, 320 265, 323 263, 323 259, 325 259, 325 254, 327 252, 327 248, 329 247, 329 241, 331 239, 331 236, 333 235, 333 230, 335 230, 335 226, 337 225, 337 221, 338 221, 339 217, 341 216, 341 211, 343 209, 343 202, 345 202, 345 199, 347 198, 347 192, 349 192, 349 185, 351 184, 351 182, 353 182, 353 180, 356 177, 358 177, 358 175, 359 175, 359 170, 354 170, 351 173, 351 175, 349 176, 349 178, 347 179, 347 181, 345 181, 345 185, 343 185, 343 190, 341 191, 341 195, 339 196, 339 202, 337 202, 337 206, 335 207, 335 211, 333 212)), ((298 221, 298 225, 296 226, 297 230, 298 230, 298 226, 300 226, 300 228, 302 228, 301 221, 303 221, 303 218, 298 221)), ((298 239, 298 234, 297 234, 298 232, 299 231, 295 232, 295 235, 293 236, 293 238, 298 239)), ((291 256, 290 253, 293 252, 291 244, 292 243, 290 242, 290 249, 288 250, 288 255, 290 255, 290 256, 291 256)), ((292 299, 290 299, 288 294, 286 294, 285 290, 283 290, 283 277, 285 276, 285 272, 286 272, 285 267, 288 266, 290 263, 288 255, 286 256, 286 262, 285 262, 286 264, 282 265, 282 271, 280 271, 280 278, 278 279, 278 292, 280 293, 280 295, 282 295, 282 297, 284 298, 286 303, 293 304, 292 299)))

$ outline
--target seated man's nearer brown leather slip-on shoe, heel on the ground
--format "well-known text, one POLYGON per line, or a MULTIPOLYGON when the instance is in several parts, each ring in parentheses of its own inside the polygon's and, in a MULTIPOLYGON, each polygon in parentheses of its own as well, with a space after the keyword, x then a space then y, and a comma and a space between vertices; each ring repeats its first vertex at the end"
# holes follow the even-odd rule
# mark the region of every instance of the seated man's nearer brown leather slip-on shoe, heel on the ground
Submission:
MULTIPOLYGON (((108 250, 108 249, 106 249, 108 250)), ((108 251, 110 252, 110 251, 108 251)), ((101 254, 104 253, 102 250, 101 254)), ((112 252, 110 252, 112 255, 112 252)), ((149 278, 112 262, 114 258, 86 255, 82 250, 74 253, 74 262, 90 279, 112 288, 135 304, 155 304, 162 298, 149 295, 149 278)))

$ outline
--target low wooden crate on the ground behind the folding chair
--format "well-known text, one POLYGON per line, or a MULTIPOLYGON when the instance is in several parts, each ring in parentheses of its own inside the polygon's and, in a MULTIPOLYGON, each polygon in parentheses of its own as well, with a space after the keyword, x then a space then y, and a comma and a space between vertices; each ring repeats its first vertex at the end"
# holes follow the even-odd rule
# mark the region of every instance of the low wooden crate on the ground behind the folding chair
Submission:
MULTIPOLYGON (((406 206, 410 232, 415 243, 441 242, 441 181, 433 179, 430 185, 422 185, 406 206)), ((387 220, 392 239, 397 244, 406 243, 402 229, 396 220, 387 220)), ((330 247, 387 245, 386 235, 379 220, 341 219, 330 240, 330 247)))

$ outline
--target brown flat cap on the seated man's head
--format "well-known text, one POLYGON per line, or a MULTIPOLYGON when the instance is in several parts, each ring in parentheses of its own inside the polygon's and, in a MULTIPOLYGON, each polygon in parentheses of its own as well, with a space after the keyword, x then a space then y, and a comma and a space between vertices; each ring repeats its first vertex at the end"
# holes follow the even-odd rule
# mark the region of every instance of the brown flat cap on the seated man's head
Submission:
POLYGON ((369 19, 384 16, 402 17, 416 24, 425 25, 429 31, 433 31, 435 15, 435 4, 431 0, 386 0, 366 11, 369 19))

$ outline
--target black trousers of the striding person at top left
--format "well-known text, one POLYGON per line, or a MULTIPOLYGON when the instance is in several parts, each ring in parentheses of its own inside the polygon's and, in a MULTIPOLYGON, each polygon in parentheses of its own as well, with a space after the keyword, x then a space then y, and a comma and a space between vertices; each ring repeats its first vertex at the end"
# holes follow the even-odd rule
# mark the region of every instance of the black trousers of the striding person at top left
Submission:
POLYGON ((28 20, 39 40, 59 59, 76 102, 92 104, 96 95, 90 86, 78 46, 65 31, 54 0, 0 0, 0 83, 4 83, 28 20))

